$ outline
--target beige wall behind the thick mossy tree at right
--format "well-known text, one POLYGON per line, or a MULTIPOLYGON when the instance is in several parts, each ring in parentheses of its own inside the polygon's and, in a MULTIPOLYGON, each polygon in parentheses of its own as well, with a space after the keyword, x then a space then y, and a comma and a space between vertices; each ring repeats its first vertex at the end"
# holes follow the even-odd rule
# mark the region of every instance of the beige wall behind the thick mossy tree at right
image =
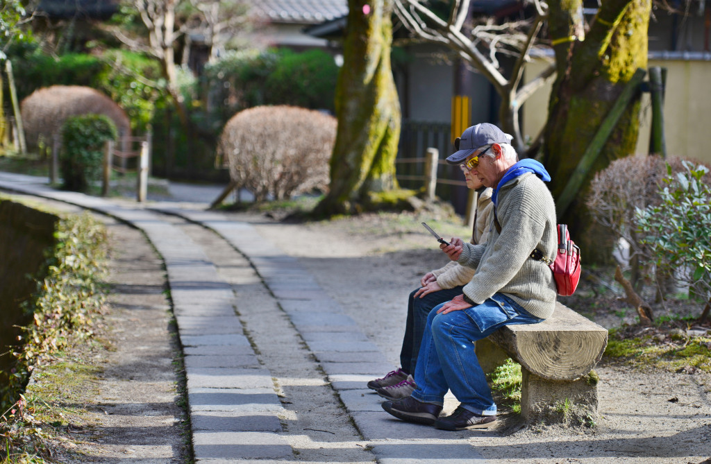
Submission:
MULTIPOLYGON (((526 78, 538 75, 546 65, 545 60, 533 60, 527 66, 526 78)), ((667 68, 664 129, 668 155, 711 164, 711 61, 649 60, 648 65, 667 68)), ((549 95, 550 85, 523 105, 525 137, 537 136, 545 124, 549 95)), ((648 152, 650 126, 651 104, 649 94, 644 93, 636 154, 648 152)))

